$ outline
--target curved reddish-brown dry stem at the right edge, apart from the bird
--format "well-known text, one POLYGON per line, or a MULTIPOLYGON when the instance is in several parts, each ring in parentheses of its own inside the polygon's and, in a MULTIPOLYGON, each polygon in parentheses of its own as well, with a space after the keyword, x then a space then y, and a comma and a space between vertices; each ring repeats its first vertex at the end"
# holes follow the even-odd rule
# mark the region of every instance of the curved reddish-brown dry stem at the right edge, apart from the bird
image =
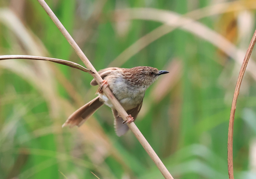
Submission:
POLYGON ((242 67, 240 69, 238 80, 236 82, 235 92, 233 96, 230 118, 229 118, 229 126, 228 126, 228 175, 229 179, 234 179, 234 170, 233 170, 233 131, 234 131, 234 119, 235 119, 235 109, 236 109, 236 101, 239 95, 239 90, 241 87, 243 75, 245 74, 245 69, 248 64, 250 55, 252 54, 253 47, 256 42, 256 30, 253 34, 252 40, 246 51, 245 58, 243 60, 242 67))

